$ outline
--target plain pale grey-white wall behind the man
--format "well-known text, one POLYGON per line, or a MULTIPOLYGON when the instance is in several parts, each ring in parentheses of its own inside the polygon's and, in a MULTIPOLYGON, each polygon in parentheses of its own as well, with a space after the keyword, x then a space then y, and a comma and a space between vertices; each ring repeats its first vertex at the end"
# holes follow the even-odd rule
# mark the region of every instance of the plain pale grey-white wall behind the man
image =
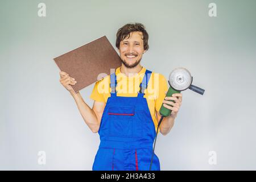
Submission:
MULTIPOLYGON (((185 90, 174 128, 159 135, 162 170, 256 169, 255 1, 0 2, 0 169, 92 169, 98 134, 60 85, 52 59, 103 35, 114 46, 118 28, 133 22, 150 35, 144 67, 166 78, 185 67, 205 89, 204 96, 185 90), (38 16, 40 2, 46 17, 38 16)), ((80 91, 89 106, 92 88, 80 91)))

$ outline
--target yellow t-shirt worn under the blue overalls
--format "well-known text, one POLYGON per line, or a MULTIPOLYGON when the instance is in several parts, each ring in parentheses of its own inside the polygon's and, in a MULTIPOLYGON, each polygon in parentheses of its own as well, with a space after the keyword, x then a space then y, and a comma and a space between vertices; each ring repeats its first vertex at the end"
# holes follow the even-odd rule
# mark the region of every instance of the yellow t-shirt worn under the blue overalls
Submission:
MULTIPOLYGON (((141 71, 133 76, 126 76, 120 72, 120 68, 115 70, 117 75, 117 96, 120 97, 137 97, 139 92, 139 84, 141 84, 146 68, 142 67, 141 71)), ((90 98, 95 101, 105 102, 110 97, 110 76, 106 76, 99 80, 94 85, 90 98)), ((163 75, 152 72, 150 80, 148 81, 147 89, 144 91, 144 98, 147 100, 148 108, 152 120, 157 129, 158 121, 156 119, 156 111, 160 110, 164 97, 166 96, 168 88, 167 81, 163 75)))

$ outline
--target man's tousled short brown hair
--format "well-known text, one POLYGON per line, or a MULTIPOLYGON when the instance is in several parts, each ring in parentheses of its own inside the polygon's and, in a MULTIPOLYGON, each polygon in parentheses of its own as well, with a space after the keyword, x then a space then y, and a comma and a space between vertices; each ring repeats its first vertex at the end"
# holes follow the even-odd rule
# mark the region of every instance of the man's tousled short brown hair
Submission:
POLYGON ((143 46, 144 46, 144 50, 147 50, 149 48, 148 46, 148 34, 147 31, 144 27, 144 25, 142 23, 128 23, 125 24, 122 28, 119 28, 119 30, 117 31, 117 40, 115 41, 115 47, 117 47, 119 49, 120 46, 120 42, 125 39, 127 36, 129 39, 130 38, 130 32, 142 32, 143 34, 143 46))

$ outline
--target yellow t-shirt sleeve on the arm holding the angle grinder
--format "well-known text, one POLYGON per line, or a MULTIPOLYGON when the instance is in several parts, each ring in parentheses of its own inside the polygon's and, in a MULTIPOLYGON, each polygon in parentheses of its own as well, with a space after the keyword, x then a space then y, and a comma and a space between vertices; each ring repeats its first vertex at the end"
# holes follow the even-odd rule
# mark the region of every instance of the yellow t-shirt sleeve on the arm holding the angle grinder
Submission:
POLYGON ((166 78, 159 74, 159 86, 158 86, 158 96, 155 99, 155 110, 159 111, 163 104, 164 97, 166 97, 166 92, 168 91, 168 85, 166 78))

